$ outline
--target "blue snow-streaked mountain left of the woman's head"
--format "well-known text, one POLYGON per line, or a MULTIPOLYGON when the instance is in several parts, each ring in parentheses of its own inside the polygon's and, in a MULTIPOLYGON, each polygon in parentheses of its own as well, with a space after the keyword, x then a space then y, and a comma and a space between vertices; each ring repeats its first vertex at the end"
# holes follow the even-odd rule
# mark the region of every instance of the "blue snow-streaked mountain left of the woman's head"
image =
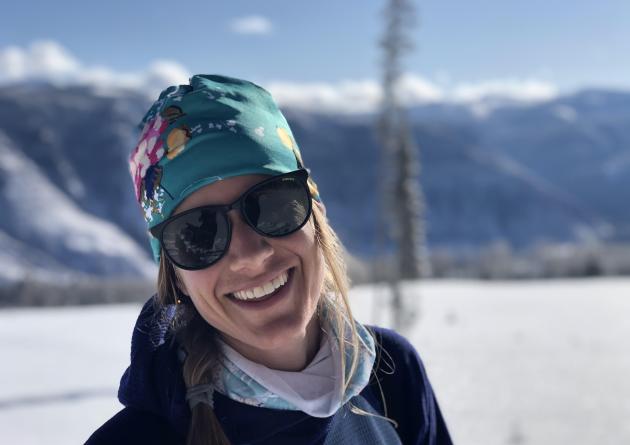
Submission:
POLYGON ((114 135, 130 136, 129 120, 116 122, 102 99, 76 91, 38 86, 0 96, 0 282, 151 276, 152 261, 130 235, 140 238, 142 226, 118 172, 124 151, 99 128, 105 119, 103 127, 120 127, 114 135))

